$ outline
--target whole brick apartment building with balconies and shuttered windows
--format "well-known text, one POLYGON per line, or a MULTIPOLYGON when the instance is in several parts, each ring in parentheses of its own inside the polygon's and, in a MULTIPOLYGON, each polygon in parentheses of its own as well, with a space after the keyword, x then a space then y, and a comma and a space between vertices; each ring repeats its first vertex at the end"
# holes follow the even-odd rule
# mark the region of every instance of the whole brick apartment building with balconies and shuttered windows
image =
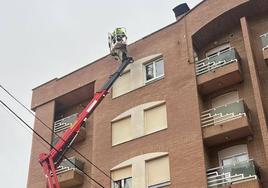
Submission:
MULTIPOLYGON (((174 23, 129 45, 135 62, 74 147, 125 188, 268 187, 268 1, 205 0, 174 12, 174 23)), ((62 134, 117 67, 107 55, 53 79, 33 89, 31 107, 62 134)), ((39 121, 34 128, 55 140, 39 121)), ((33 139, 28 188, 46 187, 43 151, 33 139)), ((67 162, 58 174, 63 188, 93 187, 67 162)))

